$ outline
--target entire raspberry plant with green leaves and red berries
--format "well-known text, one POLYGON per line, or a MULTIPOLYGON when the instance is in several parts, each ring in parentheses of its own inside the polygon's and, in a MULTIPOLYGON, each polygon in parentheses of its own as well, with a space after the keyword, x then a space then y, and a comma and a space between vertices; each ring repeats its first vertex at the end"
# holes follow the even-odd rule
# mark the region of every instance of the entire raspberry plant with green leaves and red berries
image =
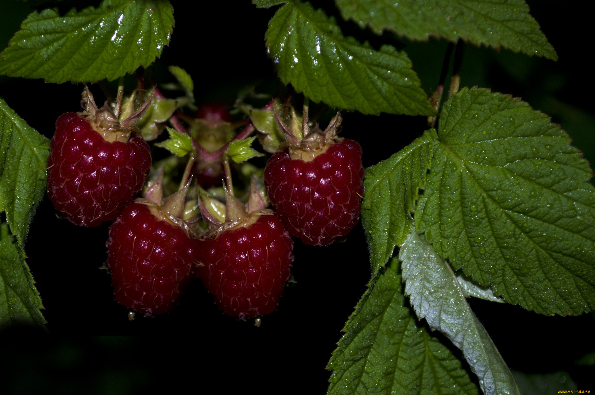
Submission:
POLYGON ((176 39, 175 2, 38 4, 22 22, 0 73, 76 84, 83 109, 64 108, 48 139, 0 98, 0 328, 46 324, 25 250, 46 192, 80 232, 108 223, 104 269, 129 319, 167 320, 196 287, 221 319, 258 326, 300 286, 292 267, 318 264, 361 220, 368 289, 330 356, 328 393, 520 394, 468 298, 549 316, 595 309, 590 165, 529 103, 459 86, 464 45, 558 59, 527 4, 252 3, 273 10, 254 56, 270 58, 278 89, 206 104, 198 76, 151 71, 176 39), (345 35, 347 23, 377 41, 345 35), (436 90, 394 34, 450 42, 436 90), (345 139, 347 112, 417 116, 427 130, 364 169, 357 133, 381 146, 393 131, 345 139), (295 243, 312 255, 294 255, 295 243))

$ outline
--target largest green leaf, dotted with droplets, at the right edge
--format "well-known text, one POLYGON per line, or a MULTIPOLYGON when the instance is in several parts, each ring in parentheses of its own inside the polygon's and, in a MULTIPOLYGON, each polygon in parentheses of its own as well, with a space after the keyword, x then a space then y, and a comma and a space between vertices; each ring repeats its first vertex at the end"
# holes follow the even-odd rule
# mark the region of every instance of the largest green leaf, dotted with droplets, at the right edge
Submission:
POLYGON ((509 303, 541 314, 590 311, 595 188, 569 143, 527 103, 462 89, 444 104, 418 231, 509 303))

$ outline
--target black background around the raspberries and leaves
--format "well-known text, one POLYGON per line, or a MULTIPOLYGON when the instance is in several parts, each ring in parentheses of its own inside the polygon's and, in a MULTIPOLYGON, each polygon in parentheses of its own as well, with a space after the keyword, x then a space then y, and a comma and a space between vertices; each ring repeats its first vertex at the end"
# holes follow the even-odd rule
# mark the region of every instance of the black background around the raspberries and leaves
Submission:
MULTIPOLYGON (((65 12, 74 4, 80 9, 98 3, 54 4, 65 12)), ((208 10, 205 2, 172 3, 176 28, 170 46, 151 66, 156 80, 173 81, 167 65, 183 67, 195 81, 199 105, 234 99, 237 90, 258 82, 257 90, 275 93, 271 87, 277 79, 263 38, 275 8, 259 10, 249 0, 208 2, 208 10)), ((422 87, 436 89, 444 40, 412 43, 390 33, 378 37, 342 21, 331 2, 314 4, 336 15, 346 35, 369 40, 375 48, 391 43, 405 49, 422 87)), ((592 162, 595 117, 587 56, 591 15, 569 7, 569 2, 528 4, 559 61, 466 45, 461 86, 491 87, 522 97, 560 123, 592 162)), ((43 6, 2 1, 0 46, 32 8, 43 6)), ((60 114, 79 111, 81 91, 80 84, 0 77, 0 96, 47 137, 60 114)), ((358 112, 343 112, 343 117, 342 136, 362 145, 365 166, 388 158, 426 128, 423 117, 358 112)), ((170 313, 129 321, 127 309, 113 300, 109 276, 98 269, 107 259, 107 233, 108 224, 75 227, 56 217, 47 197, 40 203, 26 251, 45 306, 47 333, 13 328, 0 335, 0 377, 5 375, 6 393, 130 394, 158 385, 176 391, 182 384, 199 392, 216 386, 221 392, 325 393, 330 377, 325 365, 369 279, 361 225, 345 243, 323 248, 296 241, 292 274, 297 283, 287 287, 278 311, 265 316, 260 328, 223 315, 199 283, 170 313), (90 337, 112 335, 134 337, 90 337)), ((511 369, 527 374, 563 371, 578 389, 595 391, 595 368, 575 363, 595 352, 593 314, 541 316, 519 306, 469 302, 511 369)))

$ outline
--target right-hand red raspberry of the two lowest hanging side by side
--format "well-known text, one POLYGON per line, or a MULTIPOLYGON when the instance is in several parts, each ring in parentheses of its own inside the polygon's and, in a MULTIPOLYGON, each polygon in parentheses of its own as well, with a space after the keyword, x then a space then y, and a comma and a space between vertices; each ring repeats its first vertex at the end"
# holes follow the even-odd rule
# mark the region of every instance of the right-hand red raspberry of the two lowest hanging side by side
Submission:
MULTIPOLYGON (((277 309, 289 278, 292 239, 270 211, 255 209, 251 201, 246 215, 242 203, 226 196, 227 220, 214 231, 214 239, 200 242, 196 275, 227 315, 246 319, 269 314, 277 309)), ((204 206, 201 211, 209 218, 204 206)))

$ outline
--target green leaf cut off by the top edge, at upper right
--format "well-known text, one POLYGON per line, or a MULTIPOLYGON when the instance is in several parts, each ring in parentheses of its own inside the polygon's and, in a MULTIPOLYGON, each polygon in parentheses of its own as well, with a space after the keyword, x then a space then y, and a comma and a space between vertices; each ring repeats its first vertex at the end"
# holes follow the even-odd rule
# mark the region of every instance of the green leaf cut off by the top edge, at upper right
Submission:
POLYGON ((558 54, 539 30, 523 0, 336 0, 345 19, 414 40, 428 36, 511 49, 557 60, 558 54), (423 12, 421 11, 423 10, 423 12))

